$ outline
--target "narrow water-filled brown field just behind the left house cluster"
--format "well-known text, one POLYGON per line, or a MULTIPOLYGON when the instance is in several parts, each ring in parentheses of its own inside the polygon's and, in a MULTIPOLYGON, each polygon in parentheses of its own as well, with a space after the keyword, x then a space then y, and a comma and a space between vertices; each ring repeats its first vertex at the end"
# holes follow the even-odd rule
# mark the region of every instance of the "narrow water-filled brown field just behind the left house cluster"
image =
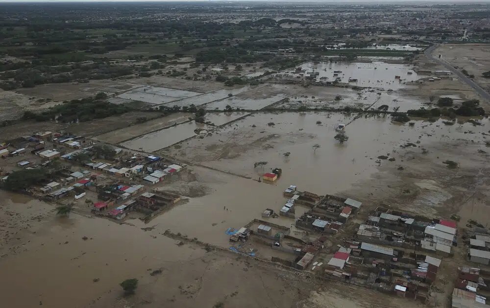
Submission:
POLYGON ((196 129, 210 130, 211 128, 209 125, 191 121, 157 132, 150 132, 139 138, 123 142, 121 145, 128 149, 153 152, 196 136, 194 132, 196 129))

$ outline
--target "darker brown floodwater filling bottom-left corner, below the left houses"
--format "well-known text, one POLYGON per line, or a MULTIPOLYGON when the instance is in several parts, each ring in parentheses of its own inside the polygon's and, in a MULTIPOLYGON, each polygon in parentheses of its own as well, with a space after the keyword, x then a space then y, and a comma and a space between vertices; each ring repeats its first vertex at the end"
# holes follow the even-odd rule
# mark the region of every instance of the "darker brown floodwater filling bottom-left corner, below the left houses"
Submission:
MULTIPOLYGON (((26 214, 35 207, 53 208, 4 191, 0 198, 3 211, 26 214)), ((180 266, 205 253, 178 247, 156 231, 104 219, 76 214, 60 219, 51 213, 46 220, 30 228, 21 244, 23 251, 15 255, 7 251, 0 258, 2 307, 37 307, 40 302, 49 308, 86 307, 124 279, 147 275, 149 268, 180 266), (84 241, 83 236, 89 239, 84 241), (98 282, 93 281, 96 278, 98 282)), ((6 249, 2 245, 0 255, 6 249)))

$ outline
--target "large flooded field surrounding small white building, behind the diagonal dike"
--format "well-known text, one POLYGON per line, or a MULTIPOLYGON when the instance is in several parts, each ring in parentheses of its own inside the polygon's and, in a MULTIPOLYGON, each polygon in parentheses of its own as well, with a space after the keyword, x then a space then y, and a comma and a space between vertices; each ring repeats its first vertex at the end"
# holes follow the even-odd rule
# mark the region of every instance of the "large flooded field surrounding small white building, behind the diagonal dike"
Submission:
POLYGON ((447 126, 442 120, 415 121, 414 126, 409 126, 392 122, 390 116, 363 117, 347 125, 345 133, 349 140, 341 145, 333 138, 335 125, 351 120, 352 117, 342 114, 321 112, 254 114, 215 131, 212 136, 191 139, 179 144, 179 149, 169 148, 163 153, 254 178, 269 168, 281 167, 281 180, 291 176, 290 181, 294 182, 299 176, 312 191, 328 187, 335 192, 350 187, 355 178, 369 175, 379 165, 378 156, 390 155, 400 145, 420 141, 417 147, 428 146, 441 138, 464 138, 468 132, 474 132, 472 138, 477 142, 484 140, 483 133, 488 131, 488 120, 476 127, 471 123, 447 126), (321 124, 316 124, 317 121, 321 124), (314 144, 321 146, 316 152, 312 149, 314 144), (256 161, 268 161, 265 170, 254 169, 256 161), (319 182, 307 176, 318 174, 319 166, 324 173, 336 177, 319 182))

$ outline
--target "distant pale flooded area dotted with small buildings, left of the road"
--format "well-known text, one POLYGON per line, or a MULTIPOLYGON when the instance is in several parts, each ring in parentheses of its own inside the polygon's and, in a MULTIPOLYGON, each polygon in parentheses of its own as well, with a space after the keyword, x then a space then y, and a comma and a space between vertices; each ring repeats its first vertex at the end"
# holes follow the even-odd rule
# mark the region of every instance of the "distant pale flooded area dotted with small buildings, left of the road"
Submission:
POLYGON ((319 73, 317 81, 335 81, 350 83, 360 87, 398 89, 407 86, 404 83, 416 81, 420 77, 408 65, 376 63, 305 63, 301 69, 306 75, 319 73), (357 79, 357 82, 349 80, 357 79))

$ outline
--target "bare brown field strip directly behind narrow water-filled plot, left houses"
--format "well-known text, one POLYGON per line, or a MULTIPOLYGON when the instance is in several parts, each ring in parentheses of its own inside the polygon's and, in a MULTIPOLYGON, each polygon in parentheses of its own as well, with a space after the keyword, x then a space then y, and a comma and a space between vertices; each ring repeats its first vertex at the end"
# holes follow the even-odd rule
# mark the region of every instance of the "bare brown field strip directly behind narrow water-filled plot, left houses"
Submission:
POLYGON ((169 127, 173 124, 179 124, 185 121, 189 121, 189 117, 191 116, 193 116, 193 113, 172 113, 165 117, 149 120, 145 123, 136 124, 120 130, 103 133, 94 137, 93 139, 116 144, 146 134, 148 132, 153 132, 169 127))

